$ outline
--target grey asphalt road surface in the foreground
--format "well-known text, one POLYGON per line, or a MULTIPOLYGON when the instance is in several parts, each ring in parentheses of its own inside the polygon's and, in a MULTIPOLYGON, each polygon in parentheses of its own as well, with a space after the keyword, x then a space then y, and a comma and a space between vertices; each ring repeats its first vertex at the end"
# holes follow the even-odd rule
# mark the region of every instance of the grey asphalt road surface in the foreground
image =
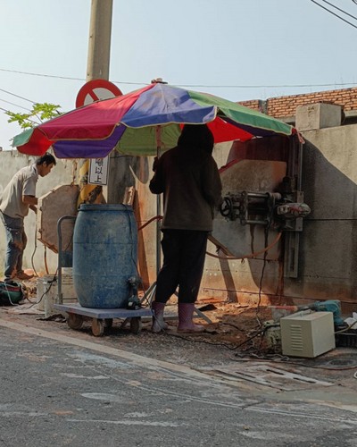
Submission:
MULTIPOLYGON (((0 318, 0 446, 357 446, 353 411, 0 318)), ((135 350, 135 349, 134 349, 135 350)))

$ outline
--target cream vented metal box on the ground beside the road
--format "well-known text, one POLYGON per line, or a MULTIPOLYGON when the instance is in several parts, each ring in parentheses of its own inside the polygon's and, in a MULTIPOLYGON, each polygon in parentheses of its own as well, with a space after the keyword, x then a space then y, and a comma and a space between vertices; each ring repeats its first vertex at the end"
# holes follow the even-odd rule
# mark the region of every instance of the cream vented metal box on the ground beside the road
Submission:
POLYGON ((335 326, 332 312, 299 312, 280 318, 283 355, 315 358, 333 350, 335 326))

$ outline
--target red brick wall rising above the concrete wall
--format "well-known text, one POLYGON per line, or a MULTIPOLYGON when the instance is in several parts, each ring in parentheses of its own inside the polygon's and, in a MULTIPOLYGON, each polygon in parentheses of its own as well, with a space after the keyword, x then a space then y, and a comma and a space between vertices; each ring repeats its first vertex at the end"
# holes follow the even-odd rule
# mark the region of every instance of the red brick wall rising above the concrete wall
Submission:
POLYGON ((328 90, 305 95, 291 95, 287 97, 270 97, 266 101, 250 100, 239 104, 246 107, 265 112, 275 118, 284 116, 295 116, 298 105, 309 105, 314 103, 328 103, 342 105, 345 111, 357 110, 357 87, 352 89, 328 90))

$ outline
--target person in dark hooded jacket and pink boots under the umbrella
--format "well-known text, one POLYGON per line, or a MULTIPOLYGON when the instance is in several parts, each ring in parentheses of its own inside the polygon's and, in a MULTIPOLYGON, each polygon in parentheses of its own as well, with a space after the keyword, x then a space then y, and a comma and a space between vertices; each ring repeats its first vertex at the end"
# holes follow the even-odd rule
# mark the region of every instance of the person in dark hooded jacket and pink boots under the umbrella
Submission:
POLYGON ((193 314, 202 275, 207 237, 221 200, 220 173, 212 157, 213 136, 204 124, 186 124, 178 146, 154 166, 150 190, 163 193, 163 266, 153 302, 153 332, 167 328, 166 302, 179 286, 178 332, 201 332, 193 314))

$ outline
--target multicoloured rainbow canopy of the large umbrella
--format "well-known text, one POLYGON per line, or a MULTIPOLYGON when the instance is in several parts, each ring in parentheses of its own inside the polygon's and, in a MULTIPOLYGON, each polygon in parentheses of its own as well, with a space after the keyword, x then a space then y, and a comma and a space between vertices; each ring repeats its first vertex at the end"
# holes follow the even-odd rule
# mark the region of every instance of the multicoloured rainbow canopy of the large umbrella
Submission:
POLYGON ((295 129, 266 114, 206 93, 154 83, 127 95, 96 101, 14 137, 22 154, 58 158, 102 158, 113 148, 154 156, 176 146, 183 124, 205 123, 214 142, 290 136, 295 129))

